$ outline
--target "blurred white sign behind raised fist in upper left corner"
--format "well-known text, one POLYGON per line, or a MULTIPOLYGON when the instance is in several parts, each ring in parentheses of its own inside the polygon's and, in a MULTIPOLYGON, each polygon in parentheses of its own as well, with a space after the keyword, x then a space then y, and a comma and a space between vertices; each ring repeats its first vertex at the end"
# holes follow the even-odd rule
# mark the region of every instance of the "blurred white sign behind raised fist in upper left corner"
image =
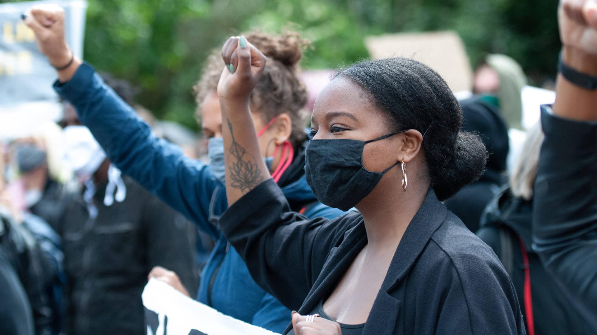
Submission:
POLYGON ((64 8, 66 41, 77 57, 83 54, 86 1, 0 4, 0 140, 27 136, 36 126, 61 117, 58 96, 52 89, 56 70, 38 51, 33 31, 21 20, 21 14, 39 4, 64 8))

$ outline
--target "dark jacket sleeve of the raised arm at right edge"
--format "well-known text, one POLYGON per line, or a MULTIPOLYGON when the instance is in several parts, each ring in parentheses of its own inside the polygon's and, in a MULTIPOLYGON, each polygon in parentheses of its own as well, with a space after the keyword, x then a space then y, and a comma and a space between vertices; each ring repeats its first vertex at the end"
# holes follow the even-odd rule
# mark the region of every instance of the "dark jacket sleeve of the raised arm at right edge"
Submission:
POLYGON ((597 122, 544 107, 533 201, 533 243, 547 271, 597 327, 597 122))

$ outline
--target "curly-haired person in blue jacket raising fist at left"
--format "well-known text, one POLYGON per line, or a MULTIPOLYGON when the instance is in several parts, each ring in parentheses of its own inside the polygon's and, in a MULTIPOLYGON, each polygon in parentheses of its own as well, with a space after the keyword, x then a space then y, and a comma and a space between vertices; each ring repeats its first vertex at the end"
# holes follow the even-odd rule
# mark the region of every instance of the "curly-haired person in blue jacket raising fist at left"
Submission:
MULTIPOLYGON (((42 20, 44 15, 62 17, 63 13, 34 10, 32 15, 42 20)), ((44 39, 40 45, 41 50, 50 51, 47 55, 52 64, 60 63, 61 57, 52 50, 64 46, 61 21, 49 28, 39 26, 33 16, 26 21, 38 36, 51 34, 52 38, 44 39)), ((303 118, 306 91, 298 67, 304 41, 295 33, 251 36, 270 59, 270 66, 251 98, 255 128, 260 132, 261 156, 293 210, 309 217, 334 218, 343 212, 319 203, 304 176, 304 151, 308 142, 303 118)), ((64 47, 62 51, 68 52, 70 59, 70 51, 64 47)), ((226 151, 221 142, 223 126, 216 94, 223 69, 219 56, 210 57, 197 88, 203 131, 211 138, 209 166, 187 159, 178 148, 156 138, 91 67, 77 59, 72 63, 58 72, 55 88, 78 107, 81 120, 90 126, 110 159, 217 241, 202 273, 198 300, 239 320, 277 332, 284 330, 290 321, 290 310, 254 283, 247 266, 236 250, 230 248, 217 225, 227 207, 223 190, 226 151), (81 89, 85 91, 82 95, 81 89), (100 97, 99 104, 88 104, 96 97, 100 97)), ((176 269, 170 270, 178 273, 176 269)), ((152 275, 181 287, 174 272, 156 268, 152 275)))

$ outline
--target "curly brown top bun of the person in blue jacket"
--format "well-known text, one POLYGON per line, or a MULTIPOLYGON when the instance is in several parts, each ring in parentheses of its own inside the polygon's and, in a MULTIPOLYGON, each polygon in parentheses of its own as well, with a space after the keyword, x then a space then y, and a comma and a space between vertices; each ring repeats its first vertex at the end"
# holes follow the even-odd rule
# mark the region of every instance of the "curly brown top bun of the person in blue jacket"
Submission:
POLYGON ((245 37, 266 57, 273 58, 285 66, 296 65, 303 57, 303 50, 310 44, 307 39, 301 38, 297 32, 284 32, 278 36, 251 32, 245 37))

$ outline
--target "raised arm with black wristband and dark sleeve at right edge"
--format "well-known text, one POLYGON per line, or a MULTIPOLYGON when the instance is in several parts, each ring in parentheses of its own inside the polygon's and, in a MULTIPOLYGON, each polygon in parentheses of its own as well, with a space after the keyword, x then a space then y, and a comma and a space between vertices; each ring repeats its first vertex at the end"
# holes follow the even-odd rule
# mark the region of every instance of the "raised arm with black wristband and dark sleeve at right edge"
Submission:
POLYGON ((543 106, 533 203, 538 255, 597 329, 597 2, 562 0, 556 100, 543 106))

